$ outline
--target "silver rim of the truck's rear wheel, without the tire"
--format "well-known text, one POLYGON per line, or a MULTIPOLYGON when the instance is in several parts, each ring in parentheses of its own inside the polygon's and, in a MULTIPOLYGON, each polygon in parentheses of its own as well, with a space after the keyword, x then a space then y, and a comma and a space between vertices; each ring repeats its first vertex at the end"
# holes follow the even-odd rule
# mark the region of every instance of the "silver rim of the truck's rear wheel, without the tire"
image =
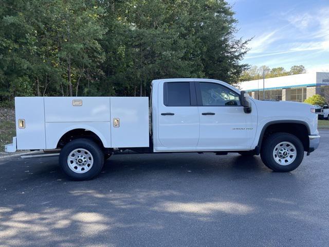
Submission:
POLYGON ((68 167, 76 173, 85 173, 89 171, 93 164, 93 155, 83 148, 73 150, 67 157, 68 167))

